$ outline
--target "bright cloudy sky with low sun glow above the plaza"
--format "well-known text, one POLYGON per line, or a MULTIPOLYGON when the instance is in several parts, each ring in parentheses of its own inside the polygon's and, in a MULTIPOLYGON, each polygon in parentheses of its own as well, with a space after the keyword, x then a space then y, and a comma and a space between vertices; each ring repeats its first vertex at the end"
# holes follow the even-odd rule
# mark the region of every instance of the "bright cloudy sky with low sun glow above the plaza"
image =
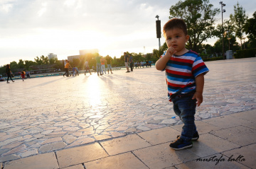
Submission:
MULTIPOLYGON (((156 15, 161 29, 169 21, 169 8, 178 0, 0 0, 0 66, 19 59, 33 60, 49 53, 58 59, 79 55, 82 49, 99 49, 102 56, 123 52, 151 53, 159 48, 156 15)), ((220 8, 219 0, 210 0, 220 8)), ((223 19, 234 5, 252 18, 251 0, 223 0, 223 19)), ((215 17, 221 23, 221 13, 215 17)), ((213 45, 216 39, 208 40, 213 45)), ((164 37, 161 37, 161 45, 164 37)))

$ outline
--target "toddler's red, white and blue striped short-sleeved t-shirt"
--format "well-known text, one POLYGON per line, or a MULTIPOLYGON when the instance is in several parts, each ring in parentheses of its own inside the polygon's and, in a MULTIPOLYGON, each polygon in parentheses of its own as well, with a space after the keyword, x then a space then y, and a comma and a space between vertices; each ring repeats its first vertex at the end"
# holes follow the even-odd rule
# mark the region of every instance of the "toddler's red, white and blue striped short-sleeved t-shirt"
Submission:
MULTIPOLYGON (((166 51, 162 56, 165 54, 166 51)), ((169 100, 171 100, 171 95, 181 88, 184 88, 182 94, 196 91, 196 76, 209 71, 201 57, 191 50, 181 56, 171 56, 164 70, 166 71, 169 100)))

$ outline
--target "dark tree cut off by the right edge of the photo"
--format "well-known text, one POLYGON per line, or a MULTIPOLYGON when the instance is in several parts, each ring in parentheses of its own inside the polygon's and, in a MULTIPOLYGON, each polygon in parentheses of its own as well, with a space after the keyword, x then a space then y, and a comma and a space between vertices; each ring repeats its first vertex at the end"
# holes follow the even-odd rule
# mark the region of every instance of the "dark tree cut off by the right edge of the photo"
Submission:
POLYGON ((256 11, 252 14, 253 18, 250 18, 245 23, 245 33, 248 34, 248 47, 256 48, 256 11))

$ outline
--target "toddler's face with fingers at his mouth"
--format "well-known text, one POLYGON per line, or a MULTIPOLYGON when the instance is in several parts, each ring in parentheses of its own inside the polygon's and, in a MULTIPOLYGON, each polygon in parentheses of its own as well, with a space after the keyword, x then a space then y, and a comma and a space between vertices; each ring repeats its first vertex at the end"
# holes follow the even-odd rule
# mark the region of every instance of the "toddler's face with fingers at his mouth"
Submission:
POLYGON ((189 39, 189 35, 185 35, 183 30, 174 28, 167 30, 165 33, 167 47, 174 47, 177 55, 184 54, 186 52, 186 42, 189 39))

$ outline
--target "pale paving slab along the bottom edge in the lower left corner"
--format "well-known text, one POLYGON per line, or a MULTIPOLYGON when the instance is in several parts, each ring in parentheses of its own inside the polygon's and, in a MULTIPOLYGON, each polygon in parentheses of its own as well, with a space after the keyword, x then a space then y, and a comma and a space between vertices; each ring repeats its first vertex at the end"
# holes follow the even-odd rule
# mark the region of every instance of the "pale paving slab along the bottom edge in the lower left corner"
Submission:
POLYGON ((9 161, 4 164, 4 169, 26 168, 26 169, 57 169, 58 162, 54 153, 43 153, 38 156, 9 161), (47 162, 47 163, 46 163, 47 162))

